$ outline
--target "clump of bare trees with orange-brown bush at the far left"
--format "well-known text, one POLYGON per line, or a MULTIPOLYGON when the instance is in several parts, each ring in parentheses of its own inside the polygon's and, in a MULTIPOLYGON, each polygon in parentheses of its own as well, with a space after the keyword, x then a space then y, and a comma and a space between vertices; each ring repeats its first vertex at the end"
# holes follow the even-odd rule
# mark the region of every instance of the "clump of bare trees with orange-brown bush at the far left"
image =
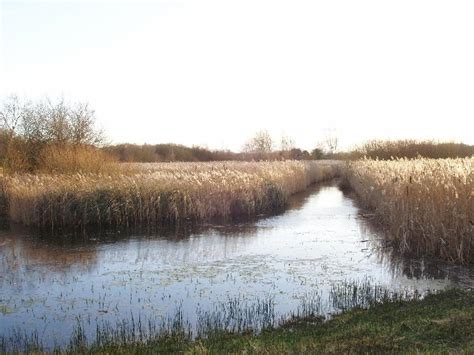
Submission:
POLYGON ((73 171, 75 166, 83 170, 110 160, 96 149, 103 136, 95 127, 94 111, 85 103, 21 101, 11 96, 0 109, 0 124, 5 172, 73 171))

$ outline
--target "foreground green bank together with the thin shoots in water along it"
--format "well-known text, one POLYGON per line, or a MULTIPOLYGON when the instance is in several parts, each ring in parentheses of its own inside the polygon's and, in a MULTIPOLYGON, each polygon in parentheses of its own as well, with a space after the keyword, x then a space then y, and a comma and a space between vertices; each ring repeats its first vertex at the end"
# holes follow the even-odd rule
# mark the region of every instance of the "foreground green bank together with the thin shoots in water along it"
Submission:
POLYGON ((115 324, 103 323, 96 327, 92 337, 86 332, 87 322, 78 319, 67 346, 51 348, 44 345, 38 334, 17 332, 9 338, 0 337, 0 351, 221 353, 244 352, 249 343, 258 353, 296 348, 394 350, 410 344, 400 334, 408 335, 412 326, 418 328, 422 324, 411 333, 418 340, 416 349, 472 349, 468 331, 474 321, 472 292, 450 290, 420 295, 393 292, 369 283, 346 283, 332 287, 329 301, 335 310, 331 317, 321 313, 325 305, 317 296, 306 296, 295 311, 279 317, 272 299, 257 299, 251 304, 229 299, 211 311, 198 310, 196 327, 187 323, 178 308, 162 321, 132 316, 115 324), (462 302, 461 308, 457 302, 462 302), (396 316, 383 319, 387 312, 396 316), (456 322, 465 327, 455 329, 456 322), (343 323, 347 325, 342 326, 343 323), (410 328, 403 324, 410 324, 410 328), (447 329, 452 330, 450 335, 440 337, 447 329), (384 343, 384 336, 391 341, 384 343))

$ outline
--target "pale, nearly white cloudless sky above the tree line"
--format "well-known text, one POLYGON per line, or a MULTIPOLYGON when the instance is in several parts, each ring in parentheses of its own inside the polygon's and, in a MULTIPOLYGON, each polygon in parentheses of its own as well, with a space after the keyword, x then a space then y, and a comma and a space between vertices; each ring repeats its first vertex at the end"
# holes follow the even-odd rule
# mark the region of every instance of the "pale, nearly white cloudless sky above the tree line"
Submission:
POLYGON ((0 96, 85 101, 111 143, 474 144, 474 1, 0 0, 0 96))

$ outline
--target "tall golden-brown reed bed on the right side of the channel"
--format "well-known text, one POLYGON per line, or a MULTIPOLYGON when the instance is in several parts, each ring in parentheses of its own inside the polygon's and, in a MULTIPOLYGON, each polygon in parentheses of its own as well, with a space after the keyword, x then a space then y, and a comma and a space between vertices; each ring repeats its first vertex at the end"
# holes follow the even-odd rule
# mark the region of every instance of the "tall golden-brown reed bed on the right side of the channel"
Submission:
POLYGON ((402 253, 474 262, 474 158, 361 160, 345 177, 402 253))

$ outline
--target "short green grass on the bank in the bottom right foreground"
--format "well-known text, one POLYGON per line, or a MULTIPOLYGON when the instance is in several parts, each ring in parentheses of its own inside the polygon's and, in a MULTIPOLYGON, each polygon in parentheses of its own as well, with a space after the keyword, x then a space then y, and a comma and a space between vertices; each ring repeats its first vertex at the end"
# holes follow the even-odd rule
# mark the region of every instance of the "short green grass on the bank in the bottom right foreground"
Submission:
POLYGON ((132 344, 71 348, 73 353, 474 353, 474 291, 353 309, 329 321, 293 319, 259 335, 215 333, 207 339, 161 336, 132 344))

